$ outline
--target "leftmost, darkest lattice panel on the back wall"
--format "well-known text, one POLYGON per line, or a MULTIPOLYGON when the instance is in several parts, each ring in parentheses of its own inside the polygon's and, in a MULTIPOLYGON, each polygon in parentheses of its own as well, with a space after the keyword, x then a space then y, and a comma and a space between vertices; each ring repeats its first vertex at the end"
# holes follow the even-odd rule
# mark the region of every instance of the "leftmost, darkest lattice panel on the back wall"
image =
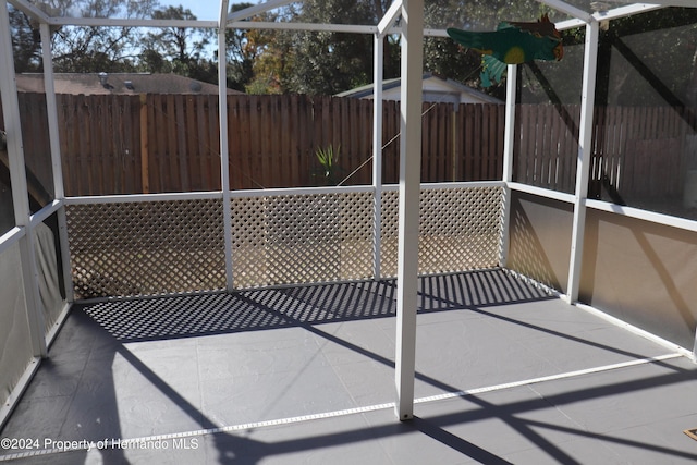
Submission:
POLYGON ((221 200, 72 205, 66 213, 80 298, 225 287, 221 200))

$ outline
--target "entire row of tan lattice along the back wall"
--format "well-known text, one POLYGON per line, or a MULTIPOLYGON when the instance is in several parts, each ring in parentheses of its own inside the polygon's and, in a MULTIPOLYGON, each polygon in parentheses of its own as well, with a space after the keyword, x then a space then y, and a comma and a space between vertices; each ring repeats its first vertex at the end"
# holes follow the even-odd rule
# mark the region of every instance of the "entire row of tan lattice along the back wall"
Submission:
MULTIPOLYGON (((502 191, 426 189, 419 273, 498 265, 502 191)), ((371 193, 232 200, 236 289, 372 277, 371 193)), ((381 274, 396 274, 399 193, 382 194, 381 274)), ((68 207, 78 298, 225 287, 221 200, 68 207)))

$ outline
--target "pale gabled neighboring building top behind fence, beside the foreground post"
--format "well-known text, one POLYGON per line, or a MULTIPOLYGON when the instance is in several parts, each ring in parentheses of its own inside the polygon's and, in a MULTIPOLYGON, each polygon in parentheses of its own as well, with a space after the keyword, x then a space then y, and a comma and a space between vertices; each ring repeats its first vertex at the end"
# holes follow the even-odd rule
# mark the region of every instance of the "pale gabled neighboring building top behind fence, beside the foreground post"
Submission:
MULTIPOLYGON (((400 100, 402 79, 400 77, 382 82, 382 99, 400 100)), ((424 74, 424 101, 450 103, 503 103, 498 98, 475 90, 453 79, 445 79, 432 73, 424 74)), ((374 85, 356 87, 337 97, 372 98, 374 85)))

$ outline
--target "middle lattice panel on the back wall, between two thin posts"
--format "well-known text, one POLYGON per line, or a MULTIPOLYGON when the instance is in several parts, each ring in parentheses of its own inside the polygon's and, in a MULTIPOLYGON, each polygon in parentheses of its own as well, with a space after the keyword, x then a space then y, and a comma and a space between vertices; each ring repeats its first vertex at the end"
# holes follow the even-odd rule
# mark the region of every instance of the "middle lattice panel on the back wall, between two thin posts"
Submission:
POLYGON ((237 289, 371 276, 370 193, 236 198, 232 223, 237 289))

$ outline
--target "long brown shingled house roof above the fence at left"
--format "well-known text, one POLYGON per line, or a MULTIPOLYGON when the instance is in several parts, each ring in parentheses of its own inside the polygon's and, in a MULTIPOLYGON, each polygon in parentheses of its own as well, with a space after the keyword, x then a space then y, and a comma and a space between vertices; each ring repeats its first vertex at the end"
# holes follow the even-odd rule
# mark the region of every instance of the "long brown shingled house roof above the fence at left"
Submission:
MULTIPOLYGON (((16 75, 17 91, 42 93, 44 74, 16 75)), ((54 73, 56 94, 137 95, 218 94, 218 86, 176 74, 150 73, 54 73)), ((242 94, 228 89, 228 94, 242 94)))

